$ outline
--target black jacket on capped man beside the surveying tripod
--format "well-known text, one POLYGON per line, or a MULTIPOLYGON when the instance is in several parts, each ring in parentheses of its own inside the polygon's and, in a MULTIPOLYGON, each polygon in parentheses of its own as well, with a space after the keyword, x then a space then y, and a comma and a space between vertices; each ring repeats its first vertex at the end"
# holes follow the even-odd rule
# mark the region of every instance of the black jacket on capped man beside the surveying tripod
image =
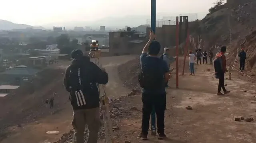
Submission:
MULTIPOLYGON (((70 92, 70 100, 73 110, 90 109, 100 106, 100 98, 97 84, 107 84, 108 74, 100 69, 90 58, 83 57, 80 59, 72 60, 71 64, 67 67, 64 76, 64 85, 68 92, 70 92), (72 76, 72 72, 80 69, 80 78, 72 76), (81 84, 77 83, 78 80, 81 84), (73 85, 72 85, 73 84, 73 85), (86 101, 85 105, 79 106, 77 101, 76 91, 81 90, 86 101)), ((80 94, 79 94, 80 95, 80 94)))

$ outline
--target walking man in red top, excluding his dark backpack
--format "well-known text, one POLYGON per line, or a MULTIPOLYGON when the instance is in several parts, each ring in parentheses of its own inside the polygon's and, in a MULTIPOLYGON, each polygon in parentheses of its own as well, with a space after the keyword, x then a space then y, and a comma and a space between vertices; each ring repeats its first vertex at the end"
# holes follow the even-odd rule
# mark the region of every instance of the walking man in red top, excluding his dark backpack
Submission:
POLYGON ((218 92, 217 95, 225 95, 228 94, 230 91, 226 90, 225 85, 224 85, 224 79, 225 79, 225 73, 228 72, 228 69, 226 68, 226 56, 224 53, 226 53, 226 46, 222 46, 220 48, 220 53, 216 55, 216 58, 221 57, 222 61, 222 72, 218 73, 219 74, 219 84, 218 84, 218 92), (220 92, 220 90, 224 91, 224 94, 220 92))

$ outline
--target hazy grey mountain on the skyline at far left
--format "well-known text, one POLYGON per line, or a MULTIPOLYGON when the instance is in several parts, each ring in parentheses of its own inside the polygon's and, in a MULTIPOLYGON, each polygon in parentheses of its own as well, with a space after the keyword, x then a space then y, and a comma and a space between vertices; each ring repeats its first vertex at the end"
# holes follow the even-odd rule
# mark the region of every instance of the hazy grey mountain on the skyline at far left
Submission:
POLYGON ((34 27, 31 25, 26 25, 26 24, 15 24, 15 23, 9 22, 7 20, 0 20, 0 30, 25 29, 28 27, 44 29, 44 27, 42 27, 42 26, 34 27))

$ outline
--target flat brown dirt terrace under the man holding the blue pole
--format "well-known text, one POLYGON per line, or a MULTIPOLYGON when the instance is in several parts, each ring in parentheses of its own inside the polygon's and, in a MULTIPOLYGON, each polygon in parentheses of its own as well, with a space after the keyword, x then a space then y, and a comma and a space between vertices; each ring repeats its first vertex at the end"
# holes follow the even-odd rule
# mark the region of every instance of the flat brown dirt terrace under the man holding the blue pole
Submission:
MULTIPOLYGON (((196 66, 196 76, 188 73, 180 76, 179 89, 176 89, 175 79, 171 80, 165 116, 169 139, 158 141, 149 135, 150 140, 144 143, 256 143, 256 124, 234 121, 240 117, 256 119, 256 86, 233 77, 225 81, 226 88, 232 92, 224 97, 216 96, 218 80, 212 71, 212 65, 196 66), (186 106, 192 106, 193 110, 187 110, 186 106)), ((136 139, 141 126, 140 98, 126 99, 124 108, 134 106, 138 110, 133 111, 130 118, 117 122, 120 126, 120 131, 116 131, 118 143, 141 142, 136 139)))

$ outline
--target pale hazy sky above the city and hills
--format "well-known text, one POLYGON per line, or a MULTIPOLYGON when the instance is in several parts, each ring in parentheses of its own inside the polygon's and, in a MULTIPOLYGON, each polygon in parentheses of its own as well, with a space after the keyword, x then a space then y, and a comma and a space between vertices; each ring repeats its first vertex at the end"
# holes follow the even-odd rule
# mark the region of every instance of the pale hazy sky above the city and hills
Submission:
MULTIPOLYGON (((0 19, 44 25, 54 22, 94 21, 106 17, 150 15, 151 0, 4 0, 0 19)), ((206 13, 216 0, 156 0, 157 13, 206 13)))

